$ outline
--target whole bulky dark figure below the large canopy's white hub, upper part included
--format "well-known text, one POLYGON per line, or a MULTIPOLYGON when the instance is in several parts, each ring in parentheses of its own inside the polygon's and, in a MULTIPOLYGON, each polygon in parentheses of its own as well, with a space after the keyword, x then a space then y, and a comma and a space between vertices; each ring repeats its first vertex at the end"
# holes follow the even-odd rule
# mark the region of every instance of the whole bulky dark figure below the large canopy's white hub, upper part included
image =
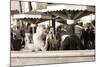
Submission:
POLYGON ((81 49, 81 41, 74 33, 74 24, 67 24, 64 27, 66 34, 61 36, 61 50, 79 50, 81 49))

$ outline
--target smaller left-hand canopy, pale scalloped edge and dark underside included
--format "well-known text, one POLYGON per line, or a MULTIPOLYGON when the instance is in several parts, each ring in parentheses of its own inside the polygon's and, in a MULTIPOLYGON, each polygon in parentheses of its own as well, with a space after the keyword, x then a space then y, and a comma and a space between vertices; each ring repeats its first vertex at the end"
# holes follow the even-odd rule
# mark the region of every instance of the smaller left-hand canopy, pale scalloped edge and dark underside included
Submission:
POLYGON ((15 14, 13 15, 13 18, 23 21, 31 21, 32 23, 40 23, 51 19, 51 16, 38 11, 30 11, 22 14, 15 14))

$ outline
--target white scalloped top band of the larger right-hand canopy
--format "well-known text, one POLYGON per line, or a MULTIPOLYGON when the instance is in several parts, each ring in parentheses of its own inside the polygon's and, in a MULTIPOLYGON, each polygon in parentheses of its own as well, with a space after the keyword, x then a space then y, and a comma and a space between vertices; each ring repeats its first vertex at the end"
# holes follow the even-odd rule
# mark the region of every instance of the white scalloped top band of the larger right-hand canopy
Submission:
POLYGON ((87 6, 87 5, 66 5, 66 4, 52 4, 48 5, 47 9, 43 9, 43 12, 46 11, 61 11, 61 10, 67 10, 67 11, 91 11, 95 12, 94 6, 87 6))

